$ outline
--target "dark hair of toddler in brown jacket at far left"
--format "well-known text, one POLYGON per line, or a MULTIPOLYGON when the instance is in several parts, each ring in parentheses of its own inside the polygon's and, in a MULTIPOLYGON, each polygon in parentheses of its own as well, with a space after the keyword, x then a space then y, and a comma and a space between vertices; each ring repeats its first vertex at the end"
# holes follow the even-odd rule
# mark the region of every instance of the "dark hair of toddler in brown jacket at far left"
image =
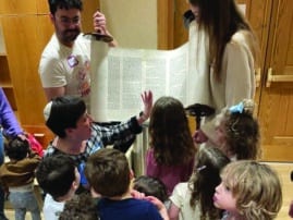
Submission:
POLYGON ((15 137, 5 145, 5 155, 13 160, 22 160, 29 152, 29 143, 26 139, 15 137))

